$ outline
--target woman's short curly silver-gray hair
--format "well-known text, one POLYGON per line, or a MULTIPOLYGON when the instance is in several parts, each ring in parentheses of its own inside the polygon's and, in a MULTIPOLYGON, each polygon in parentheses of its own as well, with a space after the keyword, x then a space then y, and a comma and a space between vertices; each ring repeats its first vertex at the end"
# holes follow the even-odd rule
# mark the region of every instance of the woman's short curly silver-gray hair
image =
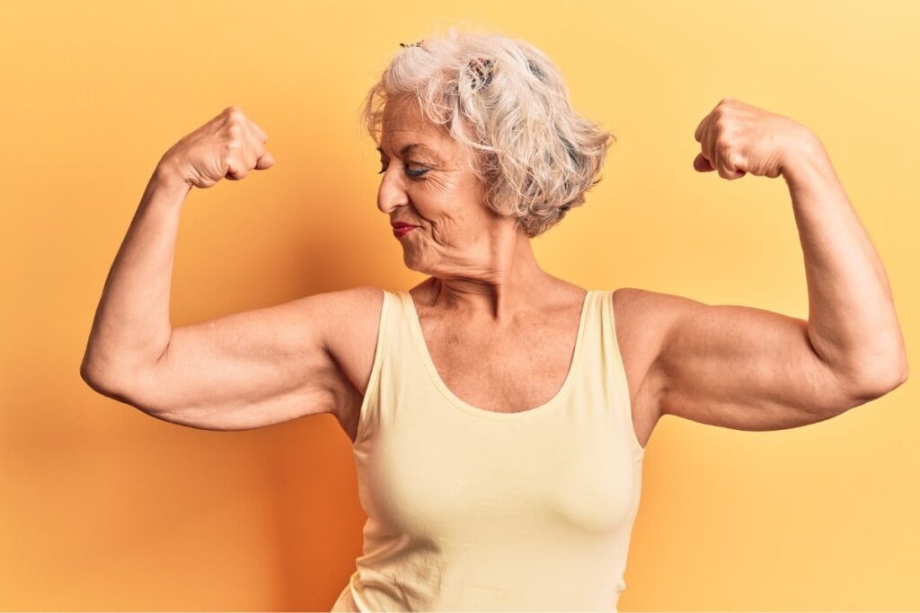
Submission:
POLYGON ((473 148, 486 204, 531 238, 584 202, 615 136, 582 119, 543 51, 498 34, 448 29, 402 45, 362 116, 379 144, 384 108, 414 97, 425 119, 473 148))

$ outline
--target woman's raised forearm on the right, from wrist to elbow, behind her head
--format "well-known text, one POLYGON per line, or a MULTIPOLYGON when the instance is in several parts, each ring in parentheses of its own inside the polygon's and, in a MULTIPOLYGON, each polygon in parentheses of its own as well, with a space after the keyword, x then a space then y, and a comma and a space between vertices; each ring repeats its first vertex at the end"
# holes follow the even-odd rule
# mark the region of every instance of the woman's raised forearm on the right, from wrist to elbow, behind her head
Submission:
POLYGON ((805 260, 811 345, 855 390, 884 393, 907 376, 891 286, 822 143, 805 142, 783 176, 805 260))

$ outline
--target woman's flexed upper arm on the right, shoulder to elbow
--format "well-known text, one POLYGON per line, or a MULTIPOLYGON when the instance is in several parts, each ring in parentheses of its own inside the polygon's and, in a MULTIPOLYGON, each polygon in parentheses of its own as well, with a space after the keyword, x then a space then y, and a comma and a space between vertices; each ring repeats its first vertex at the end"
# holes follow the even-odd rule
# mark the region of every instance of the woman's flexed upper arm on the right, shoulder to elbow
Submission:
POLYGON ((737 430, 780 430, 869 400, 814 351, 804 320, 642 293, 665 326, 650 373, 661 390, 662 414, 737 430))

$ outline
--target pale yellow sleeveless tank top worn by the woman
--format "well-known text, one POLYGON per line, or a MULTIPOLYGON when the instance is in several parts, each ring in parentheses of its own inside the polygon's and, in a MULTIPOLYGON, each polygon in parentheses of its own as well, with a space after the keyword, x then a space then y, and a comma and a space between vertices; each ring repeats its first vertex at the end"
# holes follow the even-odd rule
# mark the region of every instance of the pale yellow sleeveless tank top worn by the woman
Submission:
POLYGON ((368 519, 332 611, 615 611, 645 449, 590 290, 569 374, 520 413, 477 408, 438 375, 408 292, 384 291, 353 445, 368 519))

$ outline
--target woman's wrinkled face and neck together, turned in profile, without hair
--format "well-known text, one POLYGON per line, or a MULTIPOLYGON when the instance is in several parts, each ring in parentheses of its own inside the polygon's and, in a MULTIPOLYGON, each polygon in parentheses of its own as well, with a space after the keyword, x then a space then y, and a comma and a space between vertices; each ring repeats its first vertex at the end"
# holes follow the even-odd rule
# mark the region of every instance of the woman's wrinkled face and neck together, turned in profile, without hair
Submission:
POLYGON ((511 324, 558 289, 558 279, 537 266, 523 229, 486 206, 470 148, 424 121, 416 105, 387 104, 378 149, 378 209, 391 222, 420 226, 397 240, 406 266, 433 277, 430 291, 414 294, 425 306, 511 324))

